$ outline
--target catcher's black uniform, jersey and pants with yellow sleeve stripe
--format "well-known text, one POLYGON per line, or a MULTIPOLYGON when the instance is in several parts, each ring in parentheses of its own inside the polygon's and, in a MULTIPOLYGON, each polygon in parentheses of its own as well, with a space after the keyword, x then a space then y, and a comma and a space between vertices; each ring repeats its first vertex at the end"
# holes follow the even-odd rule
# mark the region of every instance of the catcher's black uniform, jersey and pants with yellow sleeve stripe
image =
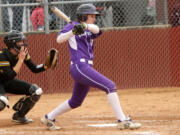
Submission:
MULTIPOLYGON (((15 78, 17 74, 13 70, 13 67, 16 65, 17 61, 18 57, 13 56, 8 49, 0 51, 0 95, 5 95, 5 93, 31 94, 29 89, 32 84, 15 78)), ((26 55, 24 63, 34 73, 45 70, 43 64, 38 66, 35 65, 29 54, 26 55)))

